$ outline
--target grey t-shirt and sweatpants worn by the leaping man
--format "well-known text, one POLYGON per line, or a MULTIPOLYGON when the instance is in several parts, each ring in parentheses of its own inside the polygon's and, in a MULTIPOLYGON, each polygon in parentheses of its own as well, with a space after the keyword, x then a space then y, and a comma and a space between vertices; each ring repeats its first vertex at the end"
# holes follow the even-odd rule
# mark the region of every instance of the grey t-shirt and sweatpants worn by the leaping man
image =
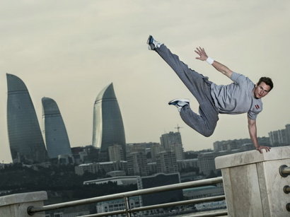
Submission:
POLYGON ((240 114, 248 112, 248 117, 255 119, 262 111, 262 101, 253 96, 254 84, 243 75, 233 73, 228 86, 218 86, 207 77, 197 73, 165 46, 156 48, 156 52, 175 71, 185 86, 199 102, 199 114, 190 106, 182 107, 180 117, 199 134, 211 136, 219 120, 219 113, 240 114))

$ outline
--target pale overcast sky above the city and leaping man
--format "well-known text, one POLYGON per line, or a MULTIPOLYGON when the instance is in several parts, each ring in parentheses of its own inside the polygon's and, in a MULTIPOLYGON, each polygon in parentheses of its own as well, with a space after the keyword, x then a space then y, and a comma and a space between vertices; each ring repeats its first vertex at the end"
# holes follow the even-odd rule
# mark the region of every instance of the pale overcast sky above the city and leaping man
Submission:
POLYGON ((91 144, 93 103, 113 83, 127 143, 159 142, 180 133, 185 151, 214 141, 249 138, 247 115, 220 115, 214 134, 199 135, 168 105, 197 102, 172 69, 147 49, 153 35, 209 80, 231 80, 195 59, 195 47, 254 83, 274 81, 257 118, 258 136, 290 124, 290 1, 1 1, 0 160, 11 162, 6 127, 6 73, 28 87, 42 127, 42 97, 54 99, 71 147, 91 144))

